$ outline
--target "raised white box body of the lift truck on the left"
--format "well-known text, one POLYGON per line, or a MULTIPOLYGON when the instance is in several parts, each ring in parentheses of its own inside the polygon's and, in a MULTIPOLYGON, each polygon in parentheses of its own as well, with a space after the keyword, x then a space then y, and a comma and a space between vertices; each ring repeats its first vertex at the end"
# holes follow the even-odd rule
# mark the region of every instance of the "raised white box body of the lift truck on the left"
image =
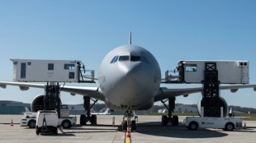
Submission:
POLYGON ((77 60, 11 59, 13 81, 78 82, 77 60))

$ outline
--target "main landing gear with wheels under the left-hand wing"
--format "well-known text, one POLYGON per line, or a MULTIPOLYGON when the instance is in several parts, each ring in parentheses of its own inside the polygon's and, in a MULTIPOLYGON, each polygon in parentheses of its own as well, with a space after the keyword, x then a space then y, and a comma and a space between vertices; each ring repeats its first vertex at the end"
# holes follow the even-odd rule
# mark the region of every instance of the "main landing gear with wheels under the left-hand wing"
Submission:
POLYGON ((80 125, 86 125, 87 122, 91 122, 92 125, 97 125, 97 116, 91 115, 91 108, 94 104, 97 103, 97 99, 92 99, 90 97, 83 97, 83 108, 86 111, 86 115, 82 114, 80 116, 80 125), (93 104, 90 104, 90 101, 93 101, 93 104))

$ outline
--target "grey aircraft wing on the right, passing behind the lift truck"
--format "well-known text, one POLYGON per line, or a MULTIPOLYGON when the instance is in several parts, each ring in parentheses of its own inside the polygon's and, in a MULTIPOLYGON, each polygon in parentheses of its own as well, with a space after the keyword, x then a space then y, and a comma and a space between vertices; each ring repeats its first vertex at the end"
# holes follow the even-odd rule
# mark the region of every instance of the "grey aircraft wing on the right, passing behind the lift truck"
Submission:
MULTIPOLYGON (((239 89, 244 88, 254 88, 256 91, 256 85, 227 85, 227 86, 220 86, 220 90, 230 90, 232 93, 235 93, 239 89)), ((190 94, 202 92, 203 87, 191 87, 191 88, 166 88, 160 87, 158 94, 154 97, 154 101, 159 101, 161 99, 167 99, 169 97, 175 97, 183 95, 187 97, 190 94)))

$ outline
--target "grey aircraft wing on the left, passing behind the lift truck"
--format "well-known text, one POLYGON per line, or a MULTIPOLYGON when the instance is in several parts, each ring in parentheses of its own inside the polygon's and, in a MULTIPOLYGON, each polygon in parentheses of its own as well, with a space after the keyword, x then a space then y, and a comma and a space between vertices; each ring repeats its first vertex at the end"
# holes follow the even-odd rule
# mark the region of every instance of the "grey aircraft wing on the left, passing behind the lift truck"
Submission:
MULTIPOLYGON (((21 90, 29 90, 30 87, 45 89, 45 84, 0 81, 0 87, 2 87, 3 89, 5 89, 7 85, 20 86, 21 90)), ((94 99, 100 99, 102 101, 105 100, 104 95, 101 94, 98 87, 60 85, 59 88, 61 91, 69 92, 71 95, 78 94, 78 95, 92 97, 94 99)))

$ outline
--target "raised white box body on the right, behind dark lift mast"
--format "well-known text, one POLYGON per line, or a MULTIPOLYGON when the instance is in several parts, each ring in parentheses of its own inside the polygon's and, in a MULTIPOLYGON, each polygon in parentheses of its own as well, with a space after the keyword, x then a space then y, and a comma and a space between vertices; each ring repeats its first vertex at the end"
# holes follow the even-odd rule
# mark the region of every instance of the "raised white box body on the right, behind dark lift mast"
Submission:
POLYGON ((249 84, 249 61, 178 61, 183 62, 184 81, 201 83, 205 78, 205 63, 216 62, 220 84, 249 84))

